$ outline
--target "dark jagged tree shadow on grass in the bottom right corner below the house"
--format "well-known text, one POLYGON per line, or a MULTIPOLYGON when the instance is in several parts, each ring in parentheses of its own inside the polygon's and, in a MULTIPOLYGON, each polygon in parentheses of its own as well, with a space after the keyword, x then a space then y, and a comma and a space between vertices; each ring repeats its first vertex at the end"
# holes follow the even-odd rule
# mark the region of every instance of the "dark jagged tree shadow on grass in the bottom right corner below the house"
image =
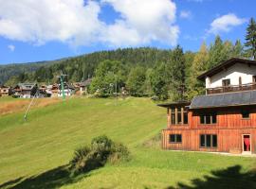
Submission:
POLYGON ((235 165, 227 169, 211 171, 211 176, 204 176, 204 179, 192 180, 192 186, 178 182, 176 187, 170 186, 166 189, 256 188, 256 170, 242 173, 241 169, 242 167, 240 165, 235 165))

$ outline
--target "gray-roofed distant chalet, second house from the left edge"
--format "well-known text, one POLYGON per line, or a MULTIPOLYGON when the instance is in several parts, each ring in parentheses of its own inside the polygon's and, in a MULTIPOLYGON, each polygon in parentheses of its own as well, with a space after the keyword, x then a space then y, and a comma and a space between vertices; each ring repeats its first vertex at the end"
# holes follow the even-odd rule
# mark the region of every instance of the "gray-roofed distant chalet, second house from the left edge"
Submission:
POLYGON ((19 83, 16 85, 14 90, 14 95, 22 97, 22 98, 30 98, 37 92, 37 84, 36 83, 19 83))

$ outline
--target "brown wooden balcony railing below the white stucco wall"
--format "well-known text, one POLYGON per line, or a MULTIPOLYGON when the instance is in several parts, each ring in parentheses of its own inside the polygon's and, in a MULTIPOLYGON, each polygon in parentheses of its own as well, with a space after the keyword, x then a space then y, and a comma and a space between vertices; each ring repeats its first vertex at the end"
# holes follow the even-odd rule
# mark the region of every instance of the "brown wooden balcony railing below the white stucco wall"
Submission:
POLYGON ((223 93, 241 92, 241 91, 249 91, 249 90, 256 90, 256 83, 208 88, 206 89, 206 93, 207 94, 223 94, 223 93))

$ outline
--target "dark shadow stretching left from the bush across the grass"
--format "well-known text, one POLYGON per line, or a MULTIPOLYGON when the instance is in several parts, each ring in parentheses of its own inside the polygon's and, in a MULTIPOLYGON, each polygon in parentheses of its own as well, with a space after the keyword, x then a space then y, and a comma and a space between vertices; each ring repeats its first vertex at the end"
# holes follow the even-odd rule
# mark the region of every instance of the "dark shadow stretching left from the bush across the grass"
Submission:
POLYGON ((89 173, 86 175, 82 174, 77 177, 70 177, 70 172, 67 169, 67 165, 59 166, 57 168, 48 170, 40 175, 32 176, 23 180, 19 178, 16 180, 9 180, 0 185, 0 188, 15 188, 15 189, 34 189, 34 188, 59 188, 65 184, 73 183, 81 180, 84 177, 88 177, 89 173))

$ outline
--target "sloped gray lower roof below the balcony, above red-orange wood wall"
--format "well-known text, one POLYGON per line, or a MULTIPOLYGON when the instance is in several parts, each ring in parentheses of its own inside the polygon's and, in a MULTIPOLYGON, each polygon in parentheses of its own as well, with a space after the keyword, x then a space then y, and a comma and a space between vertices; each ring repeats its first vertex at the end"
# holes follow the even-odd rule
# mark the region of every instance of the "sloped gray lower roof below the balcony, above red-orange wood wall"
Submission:
POLYGON ((204 109, 243 105, 256 105, 256 91, 195 96, 192 99, 190 109, 204 109))

